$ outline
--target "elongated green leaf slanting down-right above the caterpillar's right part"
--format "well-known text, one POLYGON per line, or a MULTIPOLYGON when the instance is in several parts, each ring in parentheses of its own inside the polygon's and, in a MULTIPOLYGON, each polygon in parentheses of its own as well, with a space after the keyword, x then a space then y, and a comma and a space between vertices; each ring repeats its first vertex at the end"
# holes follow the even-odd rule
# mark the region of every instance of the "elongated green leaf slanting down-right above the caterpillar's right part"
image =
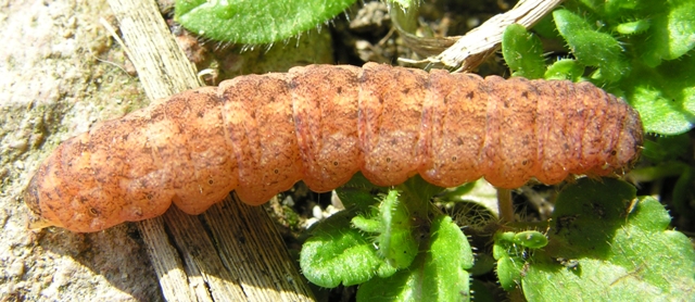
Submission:
POLYGON ((568 10, 557 10, 553 17, 577 60, 598 68, 595 78, 612 83, 630 73, 630 64, 616 38, 595 30, 589 22, 568 10))

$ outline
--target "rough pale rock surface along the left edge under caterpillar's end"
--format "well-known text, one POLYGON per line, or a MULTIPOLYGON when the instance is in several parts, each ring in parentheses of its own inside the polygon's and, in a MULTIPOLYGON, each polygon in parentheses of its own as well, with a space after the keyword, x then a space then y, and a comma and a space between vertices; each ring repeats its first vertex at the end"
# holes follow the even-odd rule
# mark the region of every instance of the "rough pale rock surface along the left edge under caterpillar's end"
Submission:
POLYGON ((27 230, 22 191, 62 140, 144 104, 105 1, 0 1, 0 300, 160 301, 131 225, 27 230))

